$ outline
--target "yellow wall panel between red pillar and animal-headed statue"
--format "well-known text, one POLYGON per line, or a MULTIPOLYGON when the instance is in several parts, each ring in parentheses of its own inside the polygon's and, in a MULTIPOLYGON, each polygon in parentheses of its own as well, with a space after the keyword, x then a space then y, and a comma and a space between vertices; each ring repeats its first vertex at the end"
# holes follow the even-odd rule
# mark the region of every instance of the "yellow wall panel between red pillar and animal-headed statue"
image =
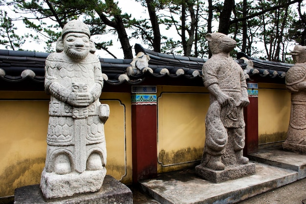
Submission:
POLYGON ((157 172, 194 165, 203 153, 209 94, 204 87, 159 86, 157 90, 157 172))

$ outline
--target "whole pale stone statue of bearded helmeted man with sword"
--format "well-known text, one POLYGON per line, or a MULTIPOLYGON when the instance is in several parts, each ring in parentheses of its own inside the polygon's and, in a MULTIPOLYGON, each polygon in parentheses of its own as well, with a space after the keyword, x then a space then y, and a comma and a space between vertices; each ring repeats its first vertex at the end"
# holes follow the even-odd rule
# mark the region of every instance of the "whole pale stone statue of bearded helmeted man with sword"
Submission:
POLYGON ((66 23, 45 62, 44 87, 51 96, 41 189, 47 199, 98 191, 106 176, 109 106, 99 102, 101 64, 89 38, 85 23, 66 23))

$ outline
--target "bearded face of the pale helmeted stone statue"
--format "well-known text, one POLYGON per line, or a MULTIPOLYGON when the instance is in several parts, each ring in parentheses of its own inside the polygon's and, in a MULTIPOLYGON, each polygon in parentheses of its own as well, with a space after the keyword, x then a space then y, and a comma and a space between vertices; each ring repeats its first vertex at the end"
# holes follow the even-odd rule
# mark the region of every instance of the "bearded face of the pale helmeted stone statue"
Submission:
POLYGON ((89 53, 90 41, 84 33, 67 33, 63 43, 66 55, 72 60, 83 60, 89 53))

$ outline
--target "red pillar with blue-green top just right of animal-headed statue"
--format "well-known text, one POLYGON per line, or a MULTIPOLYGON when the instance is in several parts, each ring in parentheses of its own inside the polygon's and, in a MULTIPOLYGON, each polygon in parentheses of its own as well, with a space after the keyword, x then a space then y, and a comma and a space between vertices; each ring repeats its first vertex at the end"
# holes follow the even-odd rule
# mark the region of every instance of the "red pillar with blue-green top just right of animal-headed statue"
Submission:
POLYGON ((247 83, 250 104, 244 108, 244 155, 258 152, 258 84, 247 83))

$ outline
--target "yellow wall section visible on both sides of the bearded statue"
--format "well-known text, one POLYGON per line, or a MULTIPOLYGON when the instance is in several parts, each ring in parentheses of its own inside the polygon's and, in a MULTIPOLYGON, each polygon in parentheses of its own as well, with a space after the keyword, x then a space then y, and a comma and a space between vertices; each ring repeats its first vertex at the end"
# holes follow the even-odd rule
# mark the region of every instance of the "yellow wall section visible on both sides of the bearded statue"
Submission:
MULTIPOLYGON (((44 91, 0 91, 0 197, 40 182, 46 154, 49 96, 44 91)), ((103 93, 107 174, 131 182, 131 94, 103 93)))

